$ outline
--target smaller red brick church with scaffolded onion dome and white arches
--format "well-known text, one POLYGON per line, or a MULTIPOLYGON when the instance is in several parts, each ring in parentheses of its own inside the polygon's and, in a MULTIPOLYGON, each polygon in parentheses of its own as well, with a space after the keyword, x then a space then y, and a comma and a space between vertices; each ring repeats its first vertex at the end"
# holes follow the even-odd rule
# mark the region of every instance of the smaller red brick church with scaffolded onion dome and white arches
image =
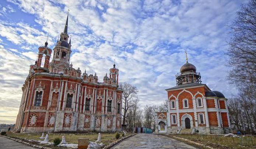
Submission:
POLYGON ((202 84, 200 73, 187 59, 176 75, 176 86, 166 91, 168 112, 156 112, 155 132, 224 134, 231 131, 227 98, 202 84))

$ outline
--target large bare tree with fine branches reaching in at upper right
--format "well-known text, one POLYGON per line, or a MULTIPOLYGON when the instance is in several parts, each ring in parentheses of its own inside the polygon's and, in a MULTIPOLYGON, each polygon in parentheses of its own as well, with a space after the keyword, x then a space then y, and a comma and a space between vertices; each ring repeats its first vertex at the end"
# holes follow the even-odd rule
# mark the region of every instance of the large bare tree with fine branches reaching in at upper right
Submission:
POLYGON ((232 84, 256 83, 256 0, 249 0, 236 12, 228 25, 231 37, 227 41, 227 64, 231 70, 227 79, 232 84))

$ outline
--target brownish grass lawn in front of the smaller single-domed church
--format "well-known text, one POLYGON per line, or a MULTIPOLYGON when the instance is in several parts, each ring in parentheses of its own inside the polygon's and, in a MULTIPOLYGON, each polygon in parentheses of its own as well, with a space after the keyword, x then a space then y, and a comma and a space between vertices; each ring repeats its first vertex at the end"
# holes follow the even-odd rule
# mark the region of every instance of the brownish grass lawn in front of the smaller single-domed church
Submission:
POLYGON ((255 149, 256 137, 231 138, 222 135, 169 135, 203 143, 218 149, 255 149))

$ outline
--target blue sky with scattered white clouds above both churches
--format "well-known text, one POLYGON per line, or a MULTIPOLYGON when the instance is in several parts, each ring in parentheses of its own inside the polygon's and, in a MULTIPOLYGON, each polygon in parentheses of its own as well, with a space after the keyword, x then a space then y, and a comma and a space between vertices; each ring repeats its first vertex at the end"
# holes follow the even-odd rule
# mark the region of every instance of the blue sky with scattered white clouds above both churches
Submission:
POLYGON ((227 23, 242 0, 1 0, 0 123, 15 123, 21 87, 39 46, 53 48, 70 10, 73 67, 103 81, 114 59, 119 81, 139 89, 141 107, 167 99, 175 75, 189 62, 203 83, 226 97, 227 23))

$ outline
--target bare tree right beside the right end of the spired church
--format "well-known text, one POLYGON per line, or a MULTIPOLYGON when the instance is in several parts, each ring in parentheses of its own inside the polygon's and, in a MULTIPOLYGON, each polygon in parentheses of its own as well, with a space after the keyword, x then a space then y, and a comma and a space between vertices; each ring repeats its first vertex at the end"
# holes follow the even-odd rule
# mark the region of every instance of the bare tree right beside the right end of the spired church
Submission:
POLYGON ((133 86, 132 84, 129 83, 120 83, 120 88, 123 90, 123 124, 126 122, 126 117, 127 117, 127 111, 129 108, 132 106, 132 101, 137 98, 137 93, 138 89, 136 86, 133 86))

